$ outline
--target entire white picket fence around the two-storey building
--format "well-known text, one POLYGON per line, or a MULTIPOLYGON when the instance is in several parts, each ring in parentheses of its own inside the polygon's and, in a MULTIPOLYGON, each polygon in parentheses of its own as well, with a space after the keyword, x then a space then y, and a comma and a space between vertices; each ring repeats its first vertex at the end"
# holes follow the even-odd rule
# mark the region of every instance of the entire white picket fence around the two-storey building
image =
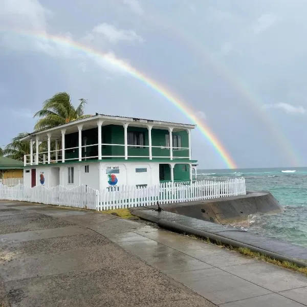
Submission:
POLYGON ((103 190, 85 185, 33 188, 0 184, 0 200, 24 201, 98 211, 246 195, 244 178, 228 181, 166 182, 156 186, 117 186, 103 190))

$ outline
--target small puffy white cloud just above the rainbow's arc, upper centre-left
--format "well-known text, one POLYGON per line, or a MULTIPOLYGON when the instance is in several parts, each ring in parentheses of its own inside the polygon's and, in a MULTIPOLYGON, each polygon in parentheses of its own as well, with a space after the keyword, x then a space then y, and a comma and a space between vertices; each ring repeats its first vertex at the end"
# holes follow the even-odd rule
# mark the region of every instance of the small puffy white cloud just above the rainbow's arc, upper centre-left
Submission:
POLYGON ((94 34, 102 34, 107 40, 112 43, 117 43, 120 40, 126 41, 144 41, 142 37, 136 34, 133 30, 121 30, 109 24, 100 24, 94 27, 94 34))

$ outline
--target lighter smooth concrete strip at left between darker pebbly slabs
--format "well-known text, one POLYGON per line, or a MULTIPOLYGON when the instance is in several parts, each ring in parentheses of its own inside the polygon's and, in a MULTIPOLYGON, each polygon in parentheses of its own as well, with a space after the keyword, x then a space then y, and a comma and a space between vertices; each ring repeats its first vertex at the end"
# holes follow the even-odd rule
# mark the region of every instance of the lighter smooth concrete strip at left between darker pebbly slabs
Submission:
POLYGON ((86 229, 80 226, 67 226, 60 228, 51 228, 43 230, 32 230, 24 232, 15 232, 0 235, 1 243, 16 243, 29 240, 46 239, 58 236, 73 235, 80 233, 92 232, 90 229, 86 229))

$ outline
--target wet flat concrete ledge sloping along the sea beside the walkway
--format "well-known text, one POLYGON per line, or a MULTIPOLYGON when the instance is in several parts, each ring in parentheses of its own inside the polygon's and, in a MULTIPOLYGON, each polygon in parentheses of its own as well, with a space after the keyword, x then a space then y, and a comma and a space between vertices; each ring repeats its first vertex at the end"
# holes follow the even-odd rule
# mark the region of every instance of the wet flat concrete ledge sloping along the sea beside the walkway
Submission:
POLYGON ((288 242, 282 242, 281 240, 277 239, 266 238, 264 236, 240 230, 231 226, 215 224, 199 220, 198 218, 193 218, 168 211, 158 212, 146 207, 131 208, 131 212, 137 216, 155 223, 158 223, 159 221, 172 222, 178 225, 183 225, 208 233, 216 234, 226 239, 232 239, 236 242, 244 243, 292 259, 297 259, 304 262, 307 261, 307 248, 296 246, 288 242))

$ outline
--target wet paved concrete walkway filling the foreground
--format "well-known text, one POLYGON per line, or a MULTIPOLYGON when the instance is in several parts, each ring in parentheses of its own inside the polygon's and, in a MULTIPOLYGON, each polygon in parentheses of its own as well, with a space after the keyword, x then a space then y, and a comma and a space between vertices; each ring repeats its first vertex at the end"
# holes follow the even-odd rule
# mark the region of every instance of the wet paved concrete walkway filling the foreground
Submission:
POLYGON ((17 202, 0 201, 0 276, 0 306, 307 306, 302 274, 112 215, 17 202))

